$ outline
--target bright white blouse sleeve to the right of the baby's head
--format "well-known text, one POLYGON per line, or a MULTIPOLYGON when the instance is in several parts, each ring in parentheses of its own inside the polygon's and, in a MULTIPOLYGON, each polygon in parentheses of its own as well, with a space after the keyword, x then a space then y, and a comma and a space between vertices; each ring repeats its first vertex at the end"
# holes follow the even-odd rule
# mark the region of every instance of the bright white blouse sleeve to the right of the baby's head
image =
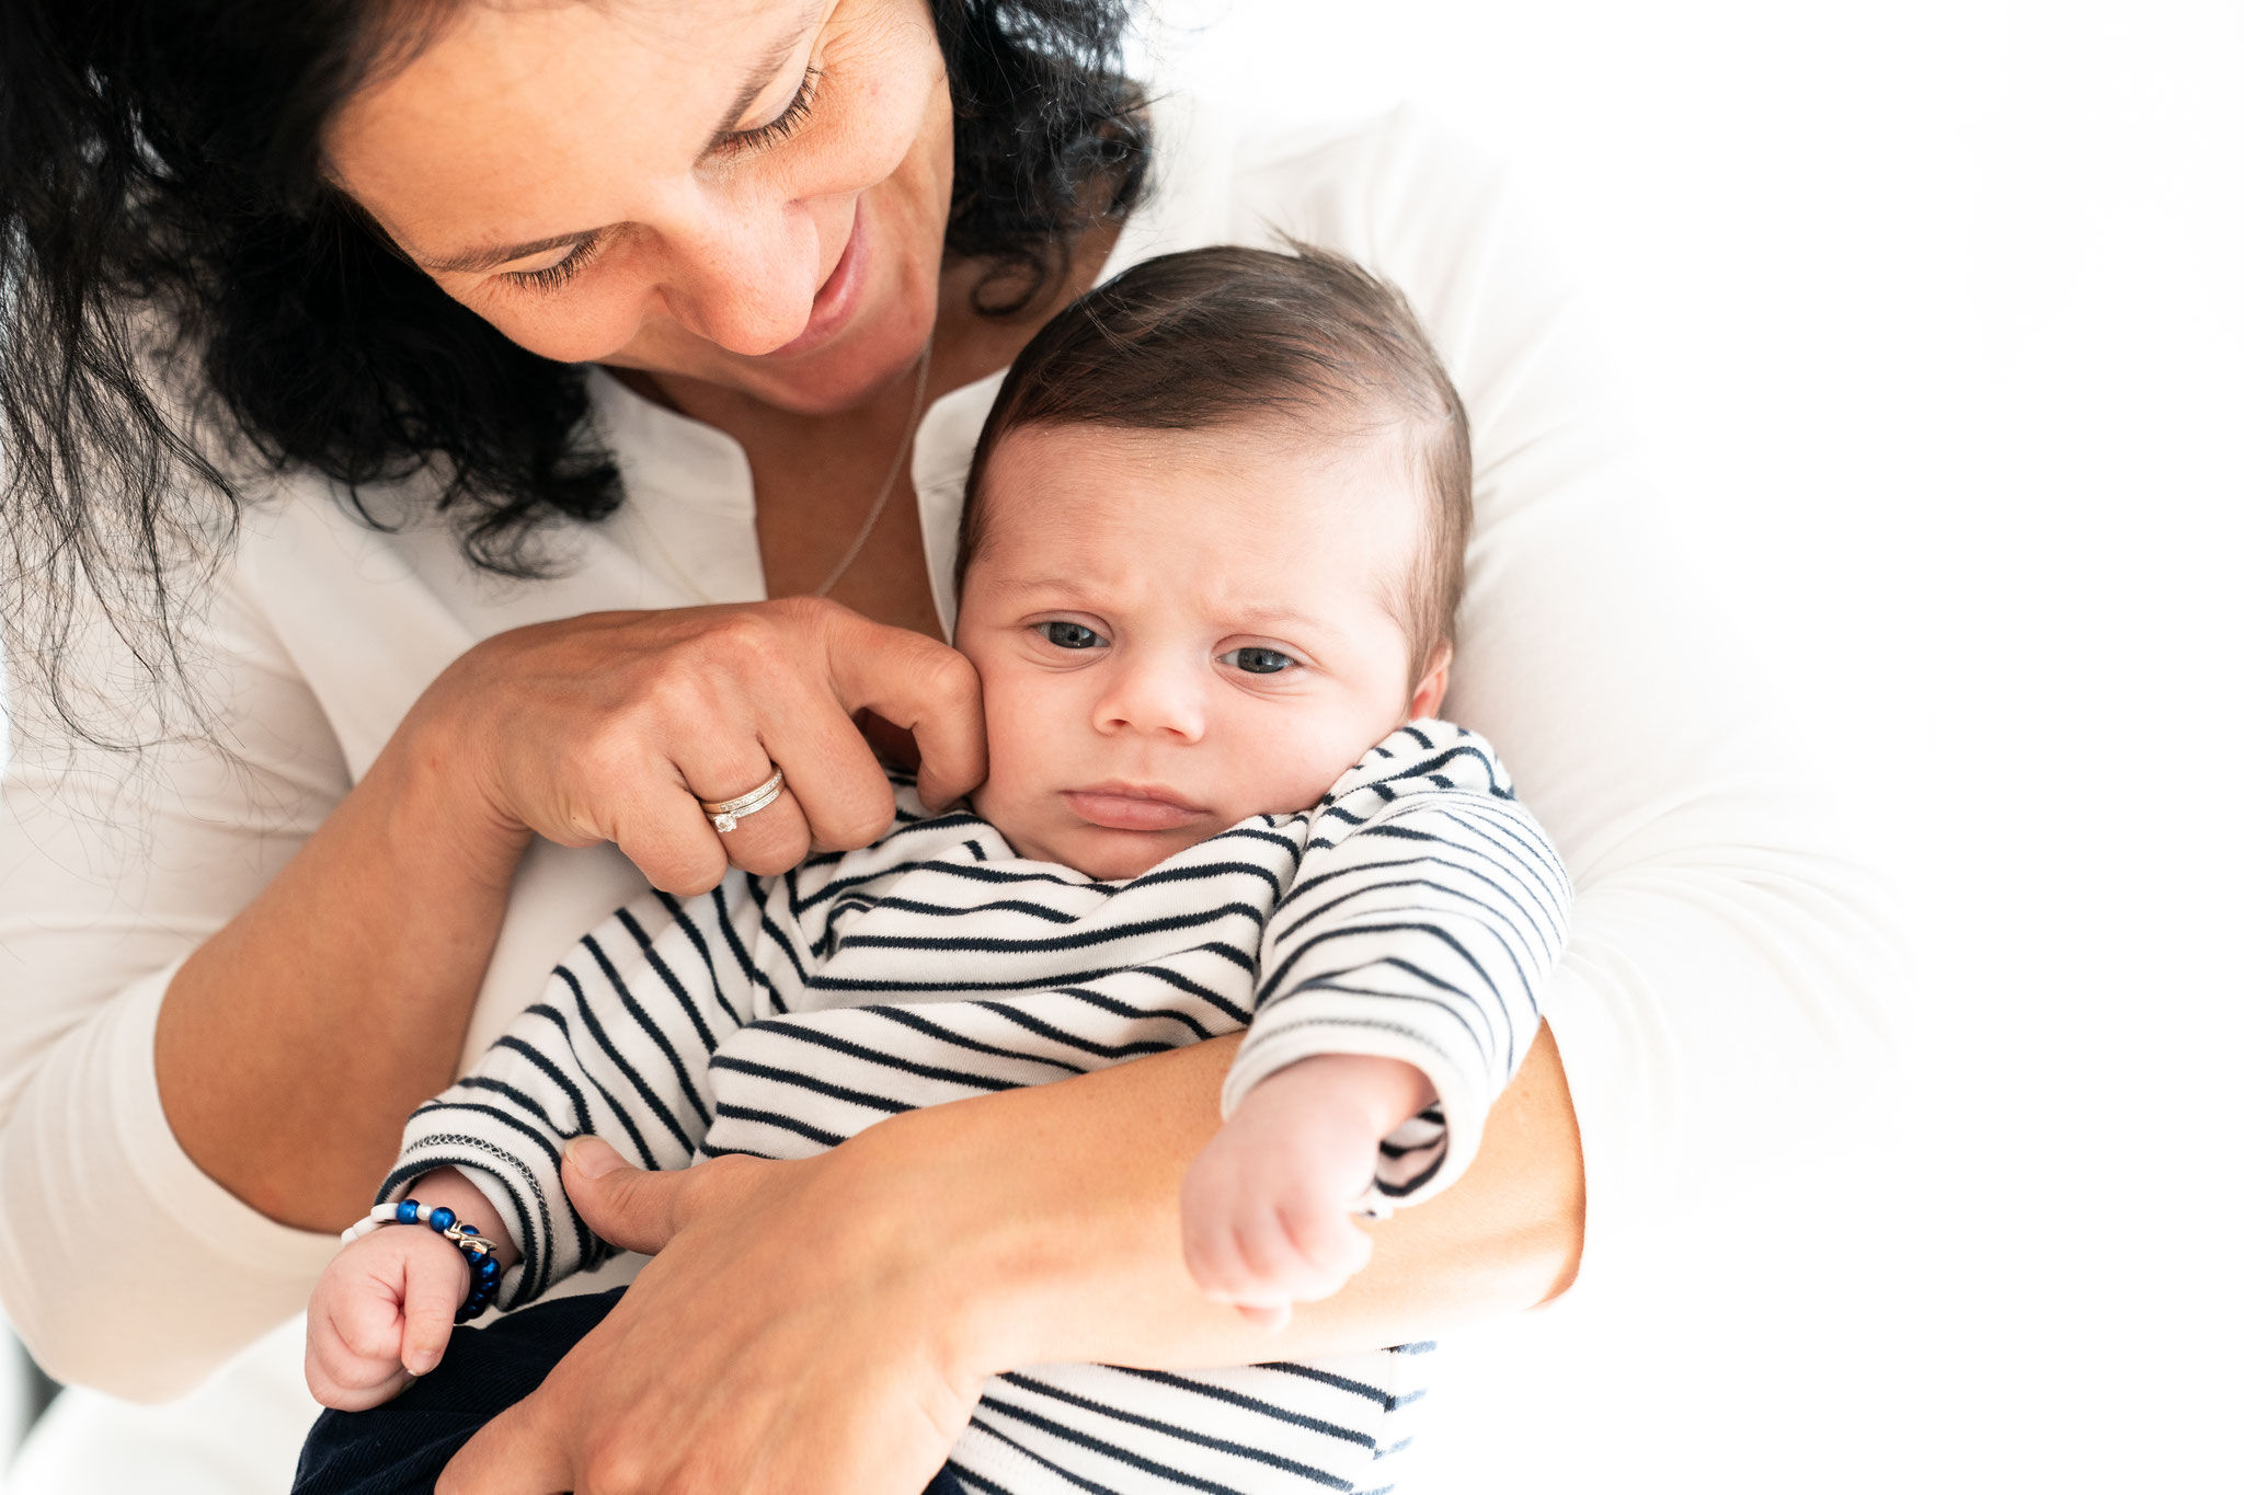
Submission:
POLYGON ((1811 762, 1690 574, 1512 184, 1407 112, 1349 150, 1304 238, 1403 287, 1472 415, 1443 715, 1495 742, 1575 883, 1544 1020, 1582 1130, 1587 1280, 1674 1195, 1874 1092, 1905 959, 1856 829, 1867 787, 1811 762))

